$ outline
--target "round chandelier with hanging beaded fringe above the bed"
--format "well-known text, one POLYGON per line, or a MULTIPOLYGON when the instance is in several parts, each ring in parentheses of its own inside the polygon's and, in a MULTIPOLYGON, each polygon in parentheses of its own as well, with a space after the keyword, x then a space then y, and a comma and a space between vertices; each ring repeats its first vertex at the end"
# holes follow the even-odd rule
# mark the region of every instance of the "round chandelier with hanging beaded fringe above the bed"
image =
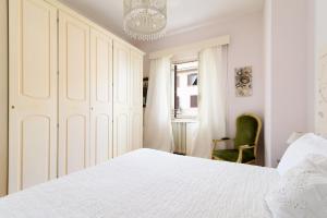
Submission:
POLYGON ((167 0, 124 0, 124 32, 138 40, 165 36, 167 0))

